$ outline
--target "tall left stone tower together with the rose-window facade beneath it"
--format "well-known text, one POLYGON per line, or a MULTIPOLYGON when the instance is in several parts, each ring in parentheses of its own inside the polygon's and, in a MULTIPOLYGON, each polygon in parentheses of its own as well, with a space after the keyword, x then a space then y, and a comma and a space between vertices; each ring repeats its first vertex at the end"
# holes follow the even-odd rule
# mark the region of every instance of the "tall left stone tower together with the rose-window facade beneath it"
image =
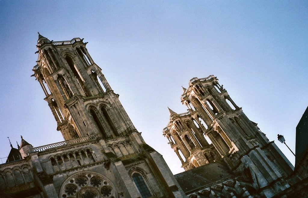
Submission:
POLYGON ((59 197, 185 196, 162 156, 132 124, 86 44, 39 34, 34 76, 65 140, 29 149, 29 155, 44 156, 36 169, 53 178, 43 192, 48 197, 51 192, 59 197))

